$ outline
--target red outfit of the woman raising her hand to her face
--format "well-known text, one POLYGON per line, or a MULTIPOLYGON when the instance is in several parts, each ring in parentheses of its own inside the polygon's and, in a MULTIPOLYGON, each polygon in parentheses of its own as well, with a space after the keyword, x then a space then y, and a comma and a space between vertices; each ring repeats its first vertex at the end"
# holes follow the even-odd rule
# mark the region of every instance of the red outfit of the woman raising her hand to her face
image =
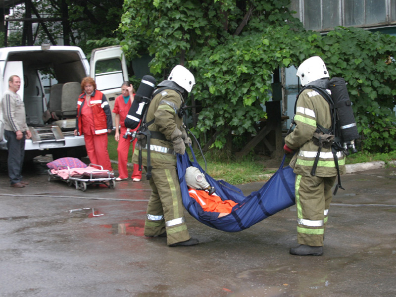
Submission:
MULTIPOLYGON (((127 117, 129 109, 131 108, 131 105, 132 105, 131 100, 128 100, 128 102, 125 104, 124 97, 120 95, 115 99, 114 108, 113 108, 113 112, 115 114, 120 115, 120 140, 118 142, 117 152, 118 152, 118 172, 119 172, 119 178, 121 179, 128 178, 127 162, 128 162, 128 152, 129 152, 129 147, 131 145, 132 137, 128 136, 128 138, 125 139, 123 136, 127 131, 124 121, 125 118, 127 117)), ((138 128, 139 126, 133 130, 131 129, 130 132, 136 131, 138 130, 138 128)), ((135 138, 134 141, 132 142, 133 143, 132 153, 135 150, 136 142, 137 139, 135 138)), ((136 178, 139 180, 142 179, 142 171, 139 171, 138 164, 133 165, 133 173, 131 178, 132 179, 136 178)))

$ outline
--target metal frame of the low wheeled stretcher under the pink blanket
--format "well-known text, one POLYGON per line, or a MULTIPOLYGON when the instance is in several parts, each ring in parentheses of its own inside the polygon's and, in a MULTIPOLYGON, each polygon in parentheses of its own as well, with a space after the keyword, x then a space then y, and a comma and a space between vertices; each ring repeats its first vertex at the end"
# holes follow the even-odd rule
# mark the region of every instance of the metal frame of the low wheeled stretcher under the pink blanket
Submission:
POLYGON ((62 180, 64 182, 66 182, 69 187, 74 185, 76 190, 81 190, 83 192, 85 192, 87 190, 87 186, 89 186, 89 185, 106 185, 110 189, 115 188, 115 177, 111 177, 111 173, 109 170, 103 169, 103 166, 98 165, 98 164, 90 163, 89 166, 90 167, 99 167, 100 169, 91 171, 89 177, 81 178, 81 177, 70 176, 70 169, 72 169, 72 168, 70 168, 69 166, 57 165, 56 170, 67 169, 69 171, 69 177, 67 179, 64 179, 57 174, 53 174, 51 172, 51 169, 48 169, 48 174, 49 174, 48 181, 62 180), (94 174, 98 174, 98 173, 102 173, 102 174, 107 173, 107 177, 94 177, 93 176, 94 174))

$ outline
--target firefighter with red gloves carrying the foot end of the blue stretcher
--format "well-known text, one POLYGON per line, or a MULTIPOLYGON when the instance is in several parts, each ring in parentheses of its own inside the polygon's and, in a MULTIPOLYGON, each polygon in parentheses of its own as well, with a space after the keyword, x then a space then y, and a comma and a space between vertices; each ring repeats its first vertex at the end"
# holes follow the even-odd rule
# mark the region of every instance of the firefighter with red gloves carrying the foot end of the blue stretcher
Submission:
MULTIPOLYGON (((284 150, 295 151, 290 162, 296 173, 297 242, 299 246, 290 249, 293 255, 322 255, 324 231, 328 218, 331 188, 337 177, 334 156, 330 148, 321 148, 314 134, 317 125, 329 129, 332 120, 329 103, 309 86, 328 89, 329 73, 319 56, 313 56, 301 63, 297 76, 302 86, 308 86, 297 98, 296 128, 285 138, 284 150), (319 159, 316 174, 311 175, 316 155, 319 159)), ((327 90, 330 92, 329 90, 327 90)), ((340 173, 345 173, 345 155, 337 152, 340 173)))

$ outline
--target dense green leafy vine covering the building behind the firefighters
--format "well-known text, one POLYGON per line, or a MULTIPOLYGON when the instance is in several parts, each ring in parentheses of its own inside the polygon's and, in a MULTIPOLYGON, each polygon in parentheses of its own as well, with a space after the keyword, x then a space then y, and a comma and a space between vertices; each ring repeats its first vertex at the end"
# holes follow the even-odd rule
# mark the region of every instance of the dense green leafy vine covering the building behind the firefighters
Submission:
POLYGON ((396 38, 338 27, 327 35, 306 31, 286 8, 288 0, 125 0, 119 26, 129 57, 149 53, 152 74, 164 78, 174 65, 193 71, 200 101, 196 132, 254 132, 265 117, 272 73, 320 55, 331 77, 344 77, 362 136, 362 149, 396 145, 394 89, 396 38), (242 31, 238 26, 249 15, 242 31))

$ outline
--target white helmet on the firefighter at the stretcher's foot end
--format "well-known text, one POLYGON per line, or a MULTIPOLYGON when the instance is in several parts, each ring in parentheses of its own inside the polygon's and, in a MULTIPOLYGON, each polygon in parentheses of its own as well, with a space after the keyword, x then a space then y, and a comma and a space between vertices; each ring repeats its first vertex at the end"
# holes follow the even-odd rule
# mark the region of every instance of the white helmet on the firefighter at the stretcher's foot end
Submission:
POLYGON ((300 78, 301 85, 305 86, 317 79, 329 77, 329 72, 323 60, 319 56, 313 56, 299 65, 297 76, 300 78))

